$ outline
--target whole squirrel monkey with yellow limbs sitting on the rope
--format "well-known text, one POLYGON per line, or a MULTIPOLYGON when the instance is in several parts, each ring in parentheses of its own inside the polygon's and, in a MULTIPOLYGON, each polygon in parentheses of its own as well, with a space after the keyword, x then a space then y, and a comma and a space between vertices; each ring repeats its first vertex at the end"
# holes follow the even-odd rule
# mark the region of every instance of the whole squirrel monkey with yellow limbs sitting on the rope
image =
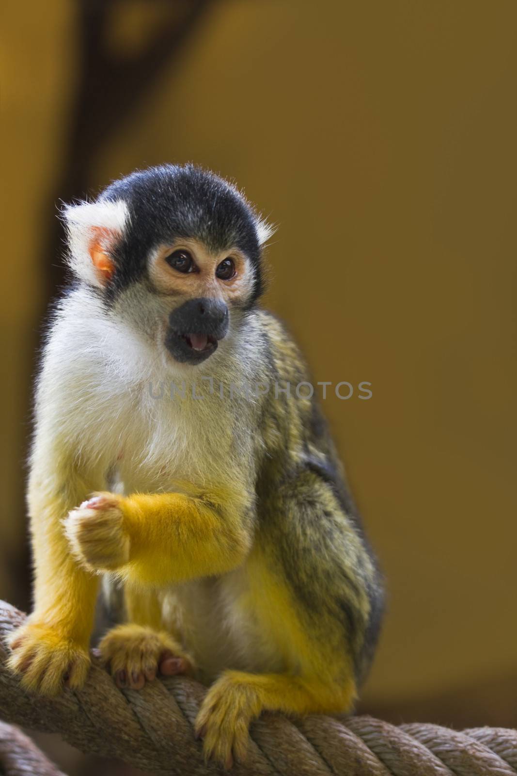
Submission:
POLYGON ((302 356, 258 306, 272 230, 250 203, 164 165, 64 220, 74 283, 37 381, 34 606, 10 666, 44 695, 81 688, 99 580, 116 582, 126 622, 99 645, 106 667, 121 688, 209 684, 196 732, 229 767, 264 709, 350 711, 381 577, 319 406, 289 393, 302 356))

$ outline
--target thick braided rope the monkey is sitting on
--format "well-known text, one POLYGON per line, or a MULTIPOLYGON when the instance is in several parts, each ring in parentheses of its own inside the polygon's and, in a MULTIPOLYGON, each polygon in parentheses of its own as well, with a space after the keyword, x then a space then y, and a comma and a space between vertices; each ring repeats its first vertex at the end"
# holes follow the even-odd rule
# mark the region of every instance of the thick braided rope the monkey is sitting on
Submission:
MULTIPOLYGON (((187 677, 155 681, 139 691, 115 687, 95 663, 81 691, 58 698, 29 695, 5 669, 2 636, 25 615, 0 602, 0 717, 60 733, 83 752, 118 757, 167 776, 220 773, 205 764, 193 725, 205 688, 187 677)), ((263 714, 253 722, 246 764, 234 776, 515 776, 517 731, 438 725, 394 726, 368 716, 263 714)), ((7 771, 8 774, 11 771, 7 771)), ((12 771, 18 774, 23 771, 12 771)), ((39 774, 39 771, 33 771, 39 774)), ((47 774, 47 771, 41 771, 47 774)))

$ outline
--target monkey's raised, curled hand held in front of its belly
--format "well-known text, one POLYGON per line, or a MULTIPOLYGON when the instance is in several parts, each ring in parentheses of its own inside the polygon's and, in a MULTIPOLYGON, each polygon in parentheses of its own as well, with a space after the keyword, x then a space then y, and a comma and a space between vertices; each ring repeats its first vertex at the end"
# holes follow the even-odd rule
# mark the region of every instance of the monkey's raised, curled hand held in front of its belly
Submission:
POLYGON ((74 556, 90 571, 113 571, 129 560, 122 502, 115 494, 93 494, 64 520, 74 556))

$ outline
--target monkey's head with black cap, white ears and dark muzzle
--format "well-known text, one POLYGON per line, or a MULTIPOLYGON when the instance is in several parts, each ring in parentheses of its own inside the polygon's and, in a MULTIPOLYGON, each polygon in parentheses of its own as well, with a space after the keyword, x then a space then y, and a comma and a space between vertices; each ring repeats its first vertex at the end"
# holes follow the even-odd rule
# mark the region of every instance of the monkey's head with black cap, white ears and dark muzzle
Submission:
POLYGON ((169 361, 209 359, 262 292, 273 230, 235 186, 194 165, 133 172, 64 219, 74 274, 169 361))

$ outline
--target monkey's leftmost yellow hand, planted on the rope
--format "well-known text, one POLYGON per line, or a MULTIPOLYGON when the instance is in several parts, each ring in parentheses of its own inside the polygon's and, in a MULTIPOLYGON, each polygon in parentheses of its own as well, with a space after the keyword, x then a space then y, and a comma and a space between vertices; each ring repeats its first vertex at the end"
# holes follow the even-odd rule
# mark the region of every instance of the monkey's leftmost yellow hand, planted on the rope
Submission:
POLYGON ((64 686, 78 689, 86 681, 88 650, 39 622, 26 622, 8 639, 8 667, 20 674, 22 686, 41 695, 57 695, 64 686))

